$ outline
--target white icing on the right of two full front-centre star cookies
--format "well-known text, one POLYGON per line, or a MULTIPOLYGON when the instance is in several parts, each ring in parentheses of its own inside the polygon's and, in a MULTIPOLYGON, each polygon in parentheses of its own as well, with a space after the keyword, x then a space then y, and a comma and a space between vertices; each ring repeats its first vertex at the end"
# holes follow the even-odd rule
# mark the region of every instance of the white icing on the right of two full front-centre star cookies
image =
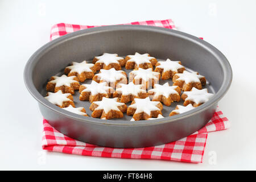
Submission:
POLYGON ((130 105, 129 107, 136 109, 134 114, 137 113, 146 113, 150 115, 151 111, 160 110, 156 105, 158 105, 159 101, 150 101, 150 98, 134 98, 135 103, 130 105))

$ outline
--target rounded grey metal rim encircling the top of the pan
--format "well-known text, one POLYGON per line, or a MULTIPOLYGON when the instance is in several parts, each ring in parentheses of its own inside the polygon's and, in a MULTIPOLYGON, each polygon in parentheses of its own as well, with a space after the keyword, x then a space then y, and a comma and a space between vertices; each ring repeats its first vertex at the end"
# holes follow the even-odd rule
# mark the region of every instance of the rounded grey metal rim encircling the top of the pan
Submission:
POLYGON ((154 26, 141 26, 141 25, 114 25, 114 26, 102 26, 102 27, 94 27, 94 28, 88 28, 85 30, 80 30, 76 32, 72 32, 70 34, 61 36, 60 38, 57 38, 55 40, 52 40, 51 42, 48 42, 44 46, 40 47, 27 61, 27 64, 24 68, 23 72, 23 77, 24 77, 24 83, 30 92, 30 94, 42 105, 48 107, 48 109, 51 109, 52 111, 55 111, 57 114, 65 115, 65 117, 71 118, 71 119, 76 119, 77 121, 80 122, 90 122, 93 124, 97 125, 112 125, 112 126, 149 126, 149 125, 159 125, 162 123, 168 123, 168 122, 176 122, 179 121, 180 119, 192 117, 193 115, 199 114, 203 112, 204 110, 207 110, 209 107, 212 105, 216 104, 228 91, 230 88, 231 82, 232 82, 232 68, 230 66, 230 63, 228 59, 214 46, 211 44, 205 42, 204 40, 201 40, 193 35, 186 34, 184 32, 176 31, 176 30, 171 30, 167 28, 162 28, 162 27, 154 27, 154 26), (136 121, 136 122, 131 122, 131 121, 125 121, 122 119, 118 120, 104 120, 104 119, 99 119, 99 118, 92 118, 92 117, 84 117, 81 115, 77 115, 75 113, 71 113, 69 111, 66 111, 64 109, 61 109, 60 107, 51 104, 48 102, 35 88, 35 85, 32 81, 32 72, 33 68, 36 65, 36 61, 40 59, 40 57, 47 52, 49 49, 57 46, 58 44, 61 44, 65 41, 68 41, 70 39, 75 39, 77 36, 81 35, 89 35, 89 34, 97 34, 100 32, 108 32, 108 31, 121 31, 121 30, 139 30, 139 31, 151 31, 151 32, 156 32, 156 33, 161 33, 161 34, 167 34, 167 35, 174 35, 179 38, 187 39, 195 44, 198 44, 201 47, 204 47, 207 49, 209 52, 211 52, 218 62, 221 65, 221 68, 223 69, 224 72, 224 80, 222 82, 222 85, 218 92, 214 94, 214 96, 208 101, 205 102, 203 105, 200 105, 199 107, 196 107, 193 110, 187 111, 186 113, 182 114, 177 114, 172 117, 164 117, 160 119, 152 119, 152 120, 142 120, 142 121, 136 121))

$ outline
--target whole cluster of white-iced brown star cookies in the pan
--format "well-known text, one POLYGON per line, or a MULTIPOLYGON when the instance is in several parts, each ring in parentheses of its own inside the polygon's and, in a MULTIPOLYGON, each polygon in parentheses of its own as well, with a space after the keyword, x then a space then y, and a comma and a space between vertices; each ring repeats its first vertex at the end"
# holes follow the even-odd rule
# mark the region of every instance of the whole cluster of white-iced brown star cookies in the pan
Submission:
POLYGON ((89 101, 92 117, 101 119, 123 118, 133 115, 133 121, 163 118, 163 105, 184 100, 170 116, 184 113, 204 102, 213 94, 202 89, 204 76, 185 71, 180 61, 158 61, 148 53, 118 57, 104 53, 94 57, 92 63, 73 62, 64 69, 65 75, 52 76, 47 83, 45 97, 49 102, 76 114, 85 115, 84 107, 75 107, 73 94, 79 90, 80 101, 89 101), (133 69, 129 79, 122 67, 133 69), (96 74, 97 71, 100 71, 96 74), (91 84, 80 84, 92 79, 91 84), (159 79, 172 79, 173 85, 158 84, 159 79), (181 91, 183 93, 181 94, 181 91), (126 104, 131 102, 129 106, 126 104))

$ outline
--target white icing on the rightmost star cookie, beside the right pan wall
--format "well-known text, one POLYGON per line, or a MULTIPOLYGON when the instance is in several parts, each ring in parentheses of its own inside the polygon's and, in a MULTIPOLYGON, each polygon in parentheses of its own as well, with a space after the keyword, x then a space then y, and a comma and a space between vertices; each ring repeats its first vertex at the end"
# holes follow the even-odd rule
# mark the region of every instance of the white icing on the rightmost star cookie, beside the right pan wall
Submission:
POLYGON ((208 93, 207 89, 199 90, 195 87, 193 87, 190 92, 183 92, 183 94, 186 94, 188 96, 185 101, 193 101, 196 104, 207 102, 210 97, 214 95, 213 93, 208 93))

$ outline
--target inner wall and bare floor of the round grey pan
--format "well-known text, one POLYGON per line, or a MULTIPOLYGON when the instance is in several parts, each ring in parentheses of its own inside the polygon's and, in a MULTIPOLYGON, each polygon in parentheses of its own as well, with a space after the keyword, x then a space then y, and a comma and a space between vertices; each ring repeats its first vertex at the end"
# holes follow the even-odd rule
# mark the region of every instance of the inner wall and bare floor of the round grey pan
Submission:
MULTIPOLYGON (((38 51, 38 55, 33 58, 31 77, 36 90, 43 97, 46 96, 46 84, 51 76, 63 75, 64 68, 72 61, 90 62, 94 56, 104 52, 117 53, 123 57, 135 52, 150 53, 158 61, 165 61, 167 58, 181 61, 187 71, 197 71, 205 76, 208 84, 204 88, 207 88, 209 93, 217 93, 224 82, 225 71, 220 58, 212 49, 199 43, 203 40, 195 41, 195 38, 189 38, 189 35, 182 36, 177 31, 156 27, 110 26, 94 30, 98 31, 93 31, 92 28, 65 35, 38 51)), ((123 71, 129 75, 132 70, 123 68, 123 71)), ((89 84, 91 81, 86 80, 81 84, 89 84)), ((159 80, 159 84, 165 82, 172 85, 171 79, 159 80)), ((80 101, 78 91, 73 97, 76 107, 83 106, 86 113, 92 113, 89 110, 90 102, 80 101)), ((130 103, 127 104, 129 105, 130 103)), ((167 117, 176 105, 183 105, 183 101, 164 106, 163 116, 167 117)), ((131 117, 124 114, 123 119, 130 121, 131 117)))

